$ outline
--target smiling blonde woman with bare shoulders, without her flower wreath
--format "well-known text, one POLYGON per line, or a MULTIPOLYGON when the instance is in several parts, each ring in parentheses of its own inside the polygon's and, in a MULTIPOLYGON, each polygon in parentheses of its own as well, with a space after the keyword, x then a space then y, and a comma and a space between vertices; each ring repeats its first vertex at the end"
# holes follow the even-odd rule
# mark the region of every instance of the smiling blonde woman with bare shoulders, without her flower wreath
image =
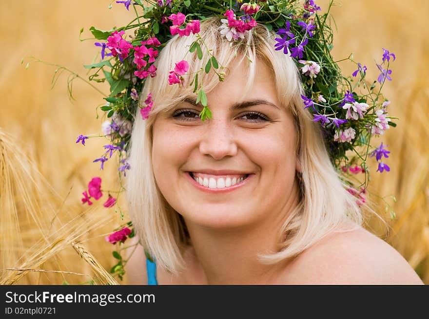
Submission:
POLYGON ((202 79, 212 118, 198 117, 189 85, 205 60, 187 56, 192 36, 167 43, 141 94, 155 104, 132 133, 126 188, 141 245, 127 263, 130 283, 155 282, 144 249, 159 284, 422 283, 361 227, 322 128, 304 109, 298 69, 274 49, 273 33, 258 24, 231 46, 220 25, 208 19, 199 32, 228 70, 222 82, 213 71, 202 79), (169 86, 184 56, 183 83, 169 86))

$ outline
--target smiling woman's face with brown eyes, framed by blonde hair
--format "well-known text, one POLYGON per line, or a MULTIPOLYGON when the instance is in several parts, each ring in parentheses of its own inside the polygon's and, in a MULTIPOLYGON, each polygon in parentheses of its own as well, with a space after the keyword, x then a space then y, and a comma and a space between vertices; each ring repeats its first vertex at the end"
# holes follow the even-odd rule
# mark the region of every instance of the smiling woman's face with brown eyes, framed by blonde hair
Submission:
POLYGON ((293 118, 280 105, 269 68, 256 63, 243 100, 244 63, 207 94, 211 119, 198 117, 194 96, 157 115, 156 183, 187 223, 230 228, 278 221, 296 194, 293 118))

